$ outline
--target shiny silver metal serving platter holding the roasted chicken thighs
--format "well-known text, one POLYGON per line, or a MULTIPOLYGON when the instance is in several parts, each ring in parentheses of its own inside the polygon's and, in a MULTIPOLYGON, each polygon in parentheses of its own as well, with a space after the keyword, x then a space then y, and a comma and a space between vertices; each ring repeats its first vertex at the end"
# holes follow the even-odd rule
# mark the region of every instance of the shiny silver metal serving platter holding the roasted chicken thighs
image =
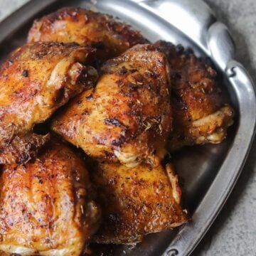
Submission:
MULTIPOLYGON (((174 154, 183 178, 183 198, 191 222, 175 230, 147 235, 136 246, 115 245, 108 255, 190 255, 215 220, 242 170, 255 132, 255 90, 235 60, 233 40, 223 23, 201 0, 33 0, 0 23, 0 60, 26 41, 34 18, 62 6, 81 6, 118 16, 150 41, 164 39, 210 57, 235 107, 235 125, 218 145, 194 146, 174 154)), ((105 247, 98 245, 100 250, 105 247)), ((97 254, 98 254, 97 250, 97 254)))

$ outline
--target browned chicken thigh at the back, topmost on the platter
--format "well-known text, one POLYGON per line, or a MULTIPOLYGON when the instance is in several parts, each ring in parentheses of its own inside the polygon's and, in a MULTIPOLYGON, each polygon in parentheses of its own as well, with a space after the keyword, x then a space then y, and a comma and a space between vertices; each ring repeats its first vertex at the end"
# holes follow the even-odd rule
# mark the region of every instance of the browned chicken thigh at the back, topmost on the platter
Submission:
POLYGON ((98 60, 107 60, 139 43, 148 43, 138 31, 107 14, 66 7, 34 21, 28 42, 76 42, 97 48, 98 60))

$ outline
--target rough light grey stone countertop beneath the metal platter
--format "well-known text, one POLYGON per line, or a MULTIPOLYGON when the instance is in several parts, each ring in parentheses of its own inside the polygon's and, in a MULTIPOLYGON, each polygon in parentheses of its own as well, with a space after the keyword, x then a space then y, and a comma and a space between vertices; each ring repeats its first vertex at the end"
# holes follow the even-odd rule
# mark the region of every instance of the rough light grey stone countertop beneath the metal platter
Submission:
MULTIPOLYGON (((0 20, 29 0, 0 0, 0 20)), ((33 0, 32 0, 33 1, 33 0)), ((233 34, 240 60, 256 81, 256 1, 206 0, 233 34)), ((256 143, 217 220, 193 256, 256 255, 256 143)))

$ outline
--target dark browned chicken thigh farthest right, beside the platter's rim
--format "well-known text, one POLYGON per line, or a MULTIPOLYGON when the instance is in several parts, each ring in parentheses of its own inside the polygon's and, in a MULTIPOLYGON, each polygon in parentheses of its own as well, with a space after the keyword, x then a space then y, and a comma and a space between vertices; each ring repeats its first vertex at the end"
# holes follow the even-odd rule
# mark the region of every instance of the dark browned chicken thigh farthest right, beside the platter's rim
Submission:
POLYGON ((186 53, 182 46, 159 41, 171 67, 171 105, 174 113, 169 148, 213 143, 225 139, 233 124, 233 108, 223 104, 216 73, 206 61, 186 53))

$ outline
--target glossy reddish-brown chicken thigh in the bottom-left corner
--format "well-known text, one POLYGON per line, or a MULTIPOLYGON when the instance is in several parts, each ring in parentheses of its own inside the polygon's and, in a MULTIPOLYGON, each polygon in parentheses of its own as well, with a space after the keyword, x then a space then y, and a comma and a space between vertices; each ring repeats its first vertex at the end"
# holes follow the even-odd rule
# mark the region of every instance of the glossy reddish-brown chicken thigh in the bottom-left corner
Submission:
POLYGON ((3 252, 79 256, 100 224, 85 164, 65 144, 51 142, 34 161, 4 166, 0 184, 3 252))

